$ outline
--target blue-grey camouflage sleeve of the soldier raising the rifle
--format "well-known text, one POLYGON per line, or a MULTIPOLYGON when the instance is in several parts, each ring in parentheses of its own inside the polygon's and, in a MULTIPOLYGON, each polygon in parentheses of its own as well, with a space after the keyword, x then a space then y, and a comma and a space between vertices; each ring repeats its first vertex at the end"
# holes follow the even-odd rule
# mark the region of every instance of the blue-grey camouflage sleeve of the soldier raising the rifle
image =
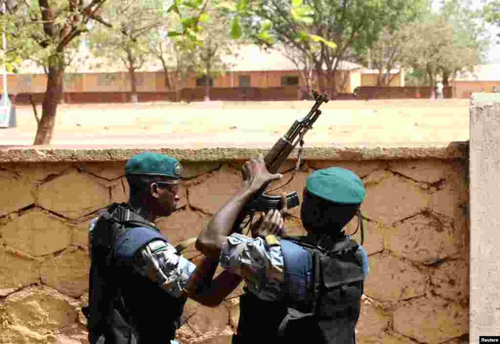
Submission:
POLYGON ((284 266, 281 246, 267 246, 260 237, 233 233, 220 252, 220 265, 241 275, 248 289, 261 299, 279 298, 284 266))

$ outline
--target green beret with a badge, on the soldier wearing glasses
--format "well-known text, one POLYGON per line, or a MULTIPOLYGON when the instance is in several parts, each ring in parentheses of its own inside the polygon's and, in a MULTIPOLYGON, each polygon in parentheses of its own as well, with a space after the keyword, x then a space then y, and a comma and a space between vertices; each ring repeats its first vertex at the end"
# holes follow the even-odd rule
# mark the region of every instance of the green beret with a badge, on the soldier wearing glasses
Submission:
POLYGON ((176 158, 154 151, 135 154, 125 163, 125 174, 164 175, 179 179, 181 172, 182 165, 176 158))

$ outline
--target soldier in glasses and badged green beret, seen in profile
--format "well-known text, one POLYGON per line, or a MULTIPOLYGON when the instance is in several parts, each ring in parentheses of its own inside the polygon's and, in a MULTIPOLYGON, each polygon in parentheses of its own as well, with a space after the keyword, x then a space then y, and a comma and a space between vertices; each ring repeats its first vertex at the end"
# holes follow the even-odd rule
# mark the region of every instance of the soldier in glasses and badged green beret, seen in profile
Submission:
POLYGON ((91 221, 85 314, 91 344, 174 342, 186 297, 215 306, 241 281, 230 271, 212 280, 218 256, 194 265, 154 225, 177 208, 181 172, 171 156, 133 155, 125 164, 129 201, 111 204, 91 221), (115 237, 102 244, 112 228, 115 237))

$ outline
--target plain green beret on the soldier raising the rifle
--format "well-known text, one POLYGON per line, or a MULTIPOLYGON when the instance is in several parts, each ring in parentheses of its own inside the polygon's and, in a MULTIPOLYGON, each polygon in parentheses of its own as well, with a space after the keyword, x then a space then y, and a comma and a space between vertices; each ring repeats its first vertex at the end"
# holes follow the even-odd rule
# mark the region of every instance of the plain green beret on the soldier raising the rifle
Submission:
POLYGON ((364 198, 364 185, 352 171, 342 167, 318 169, 309 174, 305 188, 325 200, 335 203, 358 204, 364 198))

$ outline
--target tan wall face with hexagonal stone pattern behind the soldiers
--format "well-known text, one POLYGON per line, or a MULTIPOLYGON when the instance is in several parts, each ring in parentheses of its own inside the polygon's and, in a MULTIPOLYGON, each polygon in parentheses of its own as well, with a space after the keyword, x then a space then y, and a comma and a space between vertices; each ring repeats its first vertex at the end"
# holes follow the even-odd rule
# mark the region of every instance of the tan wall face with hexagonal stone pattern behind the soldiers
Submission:
MULTIPOLYGON (((174 243, 195 236, 240 185, 243 161, 184 162, 182 201, 157 224, 174 243)), ((283 183, 294 162, 283 166, 283 183)), ((0 344, 86 341, 87 226, 128 186, 119 162, 0 163, 0 344)), ((306 160, 285 190, 301 194, 313 169, 343 166, 364 181, 365 284, 359 343, 468 341, 468 175, 464 159, 306 160)), ((278 183, 275 183, 277 185, 278 183)), ((288 232, 303 233, 298 209, 288 232)), ((348 232, 356 222, 348 224, 348 232)), ((359 237, 356 234, 356 237, 359 237)), ((194 249, 185 255, 196 260, 194 249)), ((229 343, 240 285, 216 308, 189 300, 178 340, 229 343)))

